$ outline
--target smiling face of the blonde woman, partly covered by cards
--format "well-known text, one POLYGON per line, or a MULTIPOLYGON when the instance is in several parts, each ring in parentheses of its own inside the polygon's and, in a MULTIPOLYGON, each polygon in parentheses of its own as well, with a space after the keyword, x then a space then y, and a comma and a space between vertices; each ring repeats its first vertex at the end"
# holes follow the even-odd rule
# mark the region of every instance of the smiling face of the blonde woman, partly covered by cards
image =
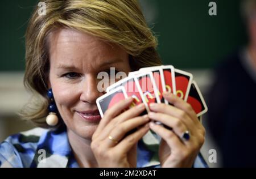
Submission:
POLYGON ((72 29, 58 29, 49 35, 49 88, 68 130, 91 139, 100 121, 96 99, 98 73, 110 67, 126 74, 129 55, 117 45, 72 29))

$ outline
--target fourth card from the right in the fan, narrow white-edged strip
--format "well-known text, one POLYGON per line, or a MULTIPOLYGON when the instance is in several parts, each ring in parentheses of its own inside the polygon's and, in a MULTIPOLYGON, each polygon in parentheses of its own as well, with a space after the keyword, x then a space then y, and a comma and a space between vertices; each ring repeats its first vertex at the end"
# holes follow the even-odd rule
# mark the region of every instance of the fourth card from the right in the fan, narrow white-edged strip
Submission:
MULTIPOLYGON (((163 86, 165 85, 164 79, 163 79, 163 70, 162 66, 155 66, 155 67, 146 67, 139 69, 139 71, 151 71, 155 80, 156 90, 158 92, 159 99, 161 103, 166 103, 166 100, 163 97, 163 86)), ((168 103, 168 102, 167 102, 168 103)))

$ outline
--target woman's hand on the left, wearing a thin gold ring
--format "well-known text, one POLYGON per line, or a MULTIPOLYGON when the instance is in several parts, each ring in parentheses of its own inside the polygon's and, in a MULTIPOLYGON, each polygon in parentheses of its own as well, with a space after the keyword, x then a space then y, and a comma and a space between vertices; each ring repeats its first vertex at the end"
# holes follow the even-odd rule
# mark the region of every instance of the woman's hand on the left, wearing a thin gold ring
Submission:
POLYGON ((139 116, 145 110, 143 103, 121 113, 132 102, 133 98, 122 100, 108 109, 94 132, 91 148, 98 167, 137 166, 137 142, 150 129, 150 120, 147 114, 139 116), (137 128, 134 133, 126 135, 137 128))

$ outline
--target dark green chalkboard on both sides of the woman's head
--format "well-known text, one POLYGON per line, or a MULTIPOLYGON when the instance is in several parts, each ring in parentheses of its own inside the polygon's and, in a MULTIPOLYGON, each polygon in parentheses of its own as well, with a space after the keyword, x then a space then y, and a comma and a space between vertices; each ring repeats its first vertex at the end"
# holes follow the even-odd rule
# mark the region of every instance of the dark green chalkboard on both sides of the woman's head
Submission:
MULTIPOLYGON (((148 24, 159 39, 164 63, 179 68, 212 68, 246 42, 240 1, 214 1, 217 16, 208 14, 206 0, 141 0, 148 24)), ((24 70, 24 32, 37 1, 2 1, 0 71, 24 70)))

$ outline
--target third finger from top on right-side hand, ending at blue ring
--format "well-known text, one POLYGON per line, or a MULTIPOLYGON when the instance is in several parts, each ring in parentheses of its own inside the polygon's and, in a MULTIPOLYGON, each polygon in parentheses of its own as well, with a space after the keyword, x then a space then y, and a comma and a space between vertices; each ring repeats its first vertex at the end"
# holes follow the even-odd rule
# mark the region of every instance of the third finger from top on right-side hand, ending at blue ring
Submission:
POLYGON ((148 117, 151 120, 162 122, 164 125, 171 127, 174 133, 176 133, 176 135, 178 135, 180 138, 182 137, 183 133, 188 130, 183 121, 164 113, 150 112, 148 113, 148 117))

